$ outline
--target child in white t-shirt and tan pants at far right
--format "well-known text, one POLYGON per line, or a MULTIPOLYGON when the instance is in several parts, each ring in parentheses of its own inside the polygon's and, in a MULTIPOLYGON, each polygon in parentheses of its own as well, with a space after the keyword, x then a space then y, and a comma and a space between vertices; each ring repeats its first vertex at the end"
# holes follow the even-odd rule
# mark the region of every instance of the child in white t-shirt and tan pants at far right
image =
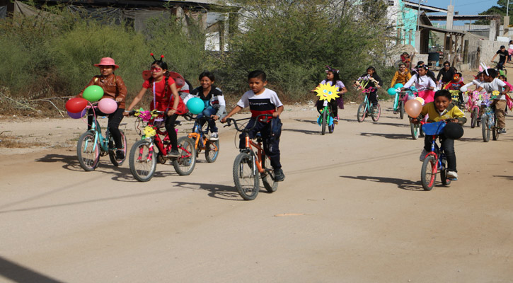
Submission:
POLYGON ((510 91, 509 86, 504 81, 497 79, 497 71, 495 69, 486 69, 483 71, 483 75, 485 78, 485 82, 482 83, 476 91, 481 91, 483 88, 488 93, 493 93, 493 91, 499 91, 500 96, 493 98, 492 105, 495 105, 495 115, 497 115, 497 120, 499 121, 499 132, 501 134, 506 133, 506 119, 505 119, 505 110, 506 110, 506 94, 510 91))

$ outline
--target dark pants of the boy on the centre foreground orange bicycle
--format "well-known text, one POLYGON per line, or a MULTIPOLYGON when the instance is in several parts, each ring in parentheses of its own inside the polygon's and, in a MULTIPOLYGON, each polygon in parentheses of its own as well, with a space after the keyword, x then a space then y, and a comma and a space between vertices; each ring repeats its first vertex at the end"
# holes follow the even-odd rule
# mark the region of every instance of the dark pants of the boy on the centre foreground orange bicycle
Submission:
MULTIPOLYGON (((272 168, 275 170, 282 168, 282 163, 279 162, 279 138, 276 139, 271 137, 271 122, 266 123, 257 121, 255 118, 251 118, 248 125, 246 125, 246 129, 253 127, 255 123, 257 123, 257 125, 248 133, 250 139, 255 138, 256 134, 260 132, 263 139, 265 155, 269 156, 272 168)), ((238 137, 241 138, 238 148, 246 148, 246 136, 244 134, 240 134, 238 137)))

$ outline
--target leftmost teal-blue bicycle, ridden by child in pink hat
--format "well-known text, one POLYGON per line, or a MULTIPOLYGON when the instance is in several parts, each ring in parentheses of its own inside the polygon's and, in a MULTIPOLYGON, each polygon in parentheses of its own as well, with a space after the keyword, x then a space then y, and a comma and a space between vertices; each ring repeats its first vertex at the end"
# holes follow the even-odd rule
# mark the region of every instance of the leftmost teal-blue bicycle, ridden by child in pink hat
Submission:
MULTIPOLYGON (((97 103, 93 103, 87 108, 93 108, 93 110, 95 110, 98 109, 98 105, 97 103)), ((105 137, 103 137, 100 123, 98 123, 98 119, 96 118, 96 111, 93 111, 93 115, 94 118, 91 129, 81 134, 76 144, 76 156, 79 157, 81 168, 85 171, 93 171, 100 163, 100 156, 107 154, 110 157, 110 162, 112 162, 114 166, 120 166, 127 156, 127 137, 125 137, 125 133, 120 129, 121 142, 123 144, 120 150, 123 151, 125 158, 117 159, 117 148, 115 147, 113 137, 110 135, 108 129, 105 131, 105 137)))

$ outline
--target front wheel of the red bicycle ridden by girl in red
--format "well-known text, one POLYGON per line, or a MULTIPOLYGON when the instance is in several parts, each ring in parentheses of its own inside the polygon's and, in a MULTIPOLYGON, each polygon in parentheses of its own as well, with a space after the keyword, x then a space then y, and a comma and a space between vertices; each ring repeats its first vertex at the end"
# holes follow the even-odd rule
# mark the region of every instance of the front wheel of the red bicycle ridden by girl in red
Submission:
POLYGON ((130 172, 139 182, 147 182, 153 178, 157 166, 157 155, 150 141, 137 141, 130 149, 128 165, 130 172))

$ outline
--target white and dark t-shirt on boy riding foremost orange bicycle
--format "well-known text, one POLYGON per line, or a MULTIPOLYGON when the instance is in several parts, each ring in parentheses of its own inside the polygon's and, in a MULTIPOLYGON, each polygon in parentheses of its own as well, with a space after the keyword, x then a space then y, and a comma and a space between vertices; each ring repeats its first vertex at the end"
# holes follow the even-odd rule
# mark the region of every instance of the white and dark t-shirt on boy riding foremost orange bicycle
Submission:
POLYGON ((256 95, 253 91, 246 91, 241 100, 238 100, 237 106, 246 108, 249 106, 251 117, 257 117, 261 114, 272 114, 276 108, 282 106, 282 101, 279 100, 275 91, 265 88, 263 93, 256 95))

